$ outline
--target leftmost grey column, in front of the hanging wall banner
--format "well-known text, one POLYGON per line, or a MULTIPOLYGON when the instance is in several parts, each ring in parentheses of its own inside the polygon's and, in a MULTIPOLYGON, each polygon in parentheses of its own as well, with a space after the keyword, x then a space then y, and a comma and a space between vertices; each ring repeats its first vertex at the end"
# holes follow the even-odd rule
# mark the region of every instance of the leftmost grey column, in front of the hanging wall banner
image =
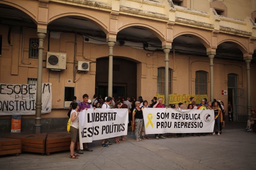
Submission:
POLYGON ((46 33, 38 32, 38 68, 37 68, 37 98, 36 98, 36 113, 35 125, 33 126, 33 134, 41 133, 41 110, 42 110, 42 68, 43 68, 43 41, 46 33))

